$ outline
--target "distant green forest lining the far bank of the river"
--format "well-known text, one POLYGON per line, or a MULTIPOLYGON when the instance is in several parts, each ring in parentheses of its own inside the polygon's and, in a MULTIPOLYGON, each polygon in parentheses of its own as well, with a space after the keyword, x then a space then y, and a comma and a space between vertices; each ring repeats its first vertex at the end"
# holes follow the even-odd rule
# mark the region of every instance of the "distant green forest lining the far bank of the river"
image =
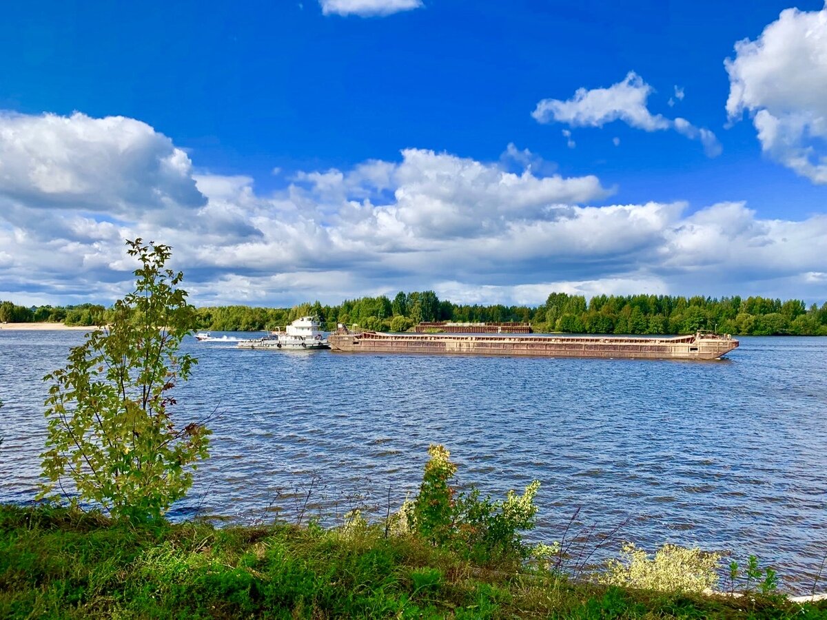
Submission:
MULTIPOLYGON (((0 322, 65 322, 101 325, 108 308, 78 306, 26 308, 0 302, 0 322)), ((683 334, 697 330, 772 336, 827 336, 827 303, 807 308, 799 299, 709 298, 671 295, 582 295, 552 293, 546 303, 528 306, 461 305, 441 301, 433 291, 399 292, 393 299, 363 297, 337 306, 302 303, 292 308, 222 306, 198 308, 198 329, 263 331, 315 315, 327 330, 341 322, 364 329, 406 331, 420 321, 530 322, 534 331, 591 334, 683 334)))

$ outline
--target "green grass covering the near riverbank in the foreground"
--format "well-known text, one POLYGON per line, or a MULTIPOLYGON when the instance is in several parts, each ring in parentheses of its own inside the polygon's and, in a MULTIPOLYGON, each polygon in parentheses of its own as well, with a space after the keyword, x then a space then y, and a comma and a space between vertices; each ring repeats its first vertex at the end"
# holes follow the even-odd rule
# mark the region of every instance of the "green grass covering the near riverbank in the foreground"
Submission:
POLYGON ((0 618, 827 618, 827 603, 575 584, 382 527, 131 526, 0 506, 0 618))

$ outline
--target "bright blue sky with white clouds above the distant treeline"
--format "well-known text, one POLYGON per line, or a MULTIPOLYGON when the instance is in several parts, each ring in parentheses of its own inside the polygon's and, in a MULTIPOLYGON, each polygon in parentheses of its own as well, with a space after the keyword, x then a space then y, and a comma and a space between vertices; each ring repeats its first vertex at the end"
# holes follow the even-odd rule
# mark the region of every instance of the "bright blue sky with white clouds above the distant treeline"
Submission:
POLYGON ((827 299, 823 2, 13 2, 0 299, 827 299))

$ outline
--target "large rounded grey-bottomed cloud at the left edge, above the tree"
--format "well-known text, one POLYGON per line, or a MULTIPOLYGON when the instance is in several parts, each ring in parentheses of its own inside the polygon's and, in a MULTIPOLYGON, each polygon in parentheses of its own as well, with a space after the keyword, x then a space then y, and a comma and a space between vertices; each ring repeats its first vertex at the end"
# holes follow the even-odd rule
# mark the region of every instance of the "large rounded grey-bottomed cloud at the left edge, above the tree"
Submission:
POLYGON ((78 112, 0 112, 0 199, 28 207, 136 209, 204 203, 189 156, 146 123, 78 112))

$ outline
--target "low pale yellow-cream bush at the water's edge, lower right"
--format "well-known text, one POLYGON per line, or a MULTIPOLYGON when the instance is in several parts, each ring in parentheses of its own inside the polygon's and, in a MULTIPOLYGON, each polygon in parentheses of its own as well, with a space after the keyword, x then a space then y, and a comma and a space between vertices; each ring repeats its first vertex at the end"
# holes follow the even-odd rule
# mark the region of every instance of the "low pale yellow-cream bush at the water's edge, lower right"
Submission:
POLYGON ((650 558, 632 543, 624 546, 623 560, 609 560, 600 581, 621 587, 661 592, 696 592, 713 589, 720 556, 698 548, 664 545, 650 558))

